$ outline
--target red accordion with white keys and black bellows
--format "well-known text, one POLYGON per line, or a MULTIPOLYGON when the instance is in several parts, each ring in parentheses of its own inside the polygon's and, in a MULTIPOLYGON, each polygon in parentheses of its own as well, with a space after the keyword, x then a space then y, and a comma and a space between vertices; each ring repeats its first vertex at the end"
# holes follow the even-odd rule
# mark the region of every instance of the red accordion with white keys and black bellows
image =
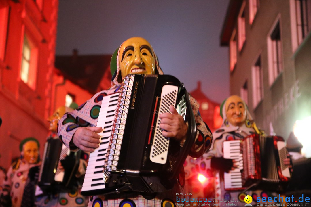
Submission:
POLYGON ((223 151, 224 158, 239 160, 239 168, 224 173, 226 190, 282 190, 290 181, 282 137, 252 134, 243 140, 224 141, 223 151))

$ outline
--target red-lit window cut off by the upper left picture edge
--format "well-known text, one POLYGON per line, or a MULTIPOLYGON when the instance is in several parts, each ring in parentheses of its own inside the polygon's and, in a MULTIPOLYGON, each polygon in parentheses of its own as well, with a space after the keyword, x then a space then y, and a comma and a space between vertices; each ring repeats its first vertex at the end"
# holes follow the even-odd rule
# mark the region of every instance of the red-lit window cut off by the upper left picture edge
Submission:
POLYGON ((7 43, 7 25, 9 18, 9 7, 0 8, 0 61, 4 60, 5 47, 7 43))

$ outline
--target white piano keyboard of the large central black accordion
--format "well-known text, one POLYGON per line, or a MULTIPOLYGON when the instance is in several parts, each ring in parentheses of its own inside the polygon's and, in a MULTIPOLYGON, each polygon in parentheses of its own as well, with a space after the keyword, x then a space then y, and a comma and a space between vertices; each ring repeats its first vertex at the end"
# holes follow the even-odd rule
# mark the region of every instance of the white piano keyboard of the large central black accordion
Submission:
POLYGON ((118 93, 113 93, 103 97, 97 127, 102 127, 100 135, 100 146, 90 153, 86 167, 82 191, 92 191, 104 189, 103 166, 111 130, 114 122, 115 110, 118 103, 118 93))

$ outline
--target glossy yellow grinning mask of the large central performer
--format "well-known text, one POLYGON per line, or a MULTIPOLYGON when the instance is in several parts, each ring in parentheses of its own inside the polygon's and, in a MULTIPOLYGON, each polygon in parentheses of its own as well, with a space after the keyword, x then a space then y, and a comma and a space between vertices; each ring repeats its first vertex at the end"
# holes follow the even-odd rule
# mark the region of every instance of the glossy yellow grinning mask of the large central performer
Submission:
POLYGON ((122 78, 128 74, 155 74, 155 57, 150 43, 141 37, 127 39, 119 50, 122 78))

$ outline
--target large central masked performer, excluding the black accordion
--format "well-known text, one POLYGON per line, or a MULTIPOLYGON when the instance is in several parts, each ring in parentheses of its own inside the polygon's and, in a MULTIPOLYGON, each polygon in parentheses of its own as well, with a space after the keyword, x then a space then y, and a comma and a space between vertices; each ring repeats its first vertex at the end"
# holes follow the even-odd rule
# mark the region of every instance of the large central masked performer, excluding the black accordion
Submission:
MULTIPOLYGON (((95 127, 98 120, 99 110, 103 96, 118 92, 121 80, 128 74, 159 74, 163 72, 158 64, 153 48, 144 38, 129 38, 121 44, 111 59, 110 69, 112 70, 112 86, 108 90, 95 94, 90 100, 79 106, 77 110, 63 116, 58 122, 58 135, 63 142, 72 150, 79 148, 84 151, 94 151, 100 143, 101 127, 95 127), (116 69, 116 70, 115 70, 116 69), (115 71, 114 71, 115 70, 115 71), (84 124, 81 124, 81 121, 84 124)), ((191 149, 190 155, 201 156, 209 149, 211 144, 211 132, 202 118, 198 115, 198 104, 191 97, 193 112, 196 119, 197 135, 196 141, 191 149)), ((172 137, 183 144, 188 127, 183 117, 180 116, 173 106, 171 113, 160 115, 160 128, 165 129, 163 136, 172 137)), ((182 170, 183 171, 183 170, 182 170)), ((88 206, 176 206, 176 193, 183 191, 184 172, 180 172, 178 181, 172 189, 158 193, 154 198, 144 198, 139 193, 120 193, 114 195, 90 196, 88 206)), ((181 196, 180 196, 181 197, 181 196)))

